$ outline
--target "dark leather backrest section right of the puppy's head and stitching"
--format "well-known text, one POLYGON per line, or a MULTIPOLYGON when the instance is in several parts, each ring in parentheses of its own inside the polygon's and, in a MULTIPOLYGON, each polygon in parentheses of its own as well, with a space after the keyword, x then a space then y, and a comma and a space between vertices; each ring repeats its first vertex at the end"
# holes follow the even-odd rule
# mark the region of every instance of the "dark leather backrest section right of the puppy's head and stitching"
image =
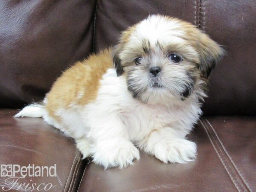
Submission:
POLYGON ((256 115, 256 1, 201 0, 201 28, 227 54, 213 70, 204 115, 256 115))

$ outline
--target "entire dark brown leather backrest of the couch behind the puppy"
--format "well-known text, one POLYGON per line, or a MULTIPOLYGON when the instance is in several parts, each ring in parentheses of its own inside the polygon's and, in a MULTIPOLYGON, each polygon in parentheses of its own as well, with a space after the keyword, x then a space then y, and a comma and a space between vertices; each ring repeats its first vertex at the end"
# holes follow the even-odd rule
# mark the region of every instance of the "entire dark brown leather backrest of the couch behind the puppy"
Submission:
POLYGON ((63 70, 156 13, 194 23, 227 51, 210 76, 204 114, 256 115, 255 0, 4 0, 0 107, 43 99, 63 70))

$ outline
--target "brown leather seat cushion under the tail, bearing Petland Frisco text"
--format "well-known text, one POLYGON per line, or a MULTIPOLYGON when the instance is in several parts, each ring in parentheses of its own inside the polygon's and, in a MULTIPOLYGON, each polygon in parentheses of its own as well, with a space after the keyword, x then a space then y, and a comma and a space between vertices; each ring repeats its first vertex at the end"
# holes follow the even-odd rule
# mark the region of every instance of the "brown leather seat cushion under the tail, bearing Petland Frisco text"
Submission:
MULTIPOLYGON (((42 118, 15 119, 12 117, 15 113, 16 110, 0 110, 0 165, 56 164, 58 177, 25 177, 19 182, 37 185, 52 183, 55 187, 49 191, 76 191, 86 162, 81 161, 74 141, 47 125, 42 118)), ((0 177, 0 191, 6 178, 0 177)), ((18 191, 24 190, 21 188, 18 191)))

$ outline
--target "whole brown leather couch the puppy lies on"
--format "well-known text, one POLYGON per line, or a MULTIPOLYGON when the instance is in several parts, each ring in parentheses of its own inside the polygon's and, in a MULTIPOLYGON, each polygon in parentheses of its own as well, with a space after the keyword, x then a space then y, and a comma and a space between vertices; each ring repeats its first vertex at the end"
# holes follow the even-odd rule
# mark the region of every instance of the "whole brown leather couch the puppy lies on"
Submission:
POLYGON ((255 50, 255 0, 2 0, 0 164, 56 164, 58 177, 19 182, 52 183, 49 191, 57 192, 256 191, 255 50), (141 153, 134 166, 104 171, 43 119, 12 118, 43 99, 75 61, 115 44, 120 31, 153 13, 194 23, 227 51, 189 135, 198 144, 194 162, 164 164, 141 153))

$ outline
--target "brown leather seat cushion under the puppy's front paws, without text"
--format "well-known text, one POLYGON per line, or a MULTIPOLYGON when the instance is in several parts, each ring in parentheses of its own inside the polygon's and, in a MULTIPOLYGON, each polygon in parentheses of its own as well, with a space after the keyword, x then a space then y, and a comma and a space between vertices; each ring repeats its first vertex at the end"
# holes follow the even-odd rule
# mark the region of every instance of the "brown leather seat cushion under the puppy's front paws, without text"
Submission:
POLYGON ((89 163, 79 191, 255 191, 255 135, 255 117, 207 117, 189 135, 198 145, 194 162, 164 164, 141 153, 125 169, 104 170, 89 163))

